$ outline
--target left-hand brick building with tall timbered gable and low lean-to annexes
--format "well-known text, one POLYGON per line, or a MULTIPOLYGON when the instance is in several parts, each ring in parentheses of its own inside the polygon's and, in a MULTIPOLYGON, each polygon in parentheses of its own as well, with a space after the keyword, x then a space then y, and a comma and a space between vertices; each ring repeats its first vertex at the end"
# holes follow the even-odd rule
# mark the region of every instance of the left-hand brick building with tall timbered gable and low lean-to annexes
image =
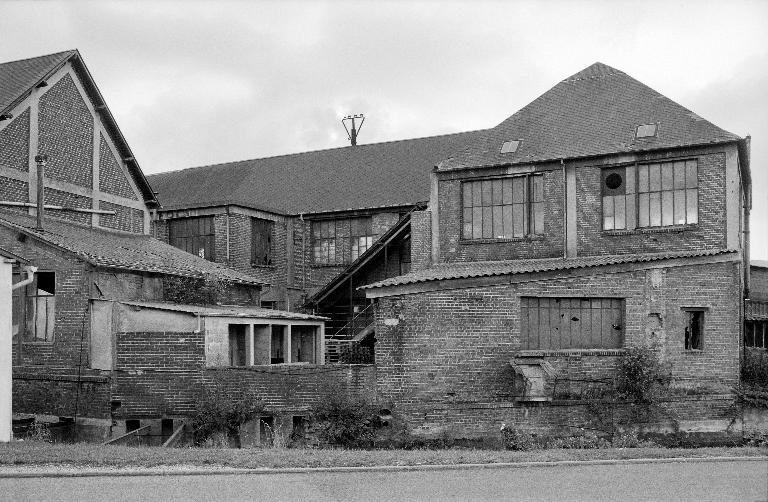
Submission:
POLYGON ((77 51, 0 65, 0 250, 38 268, 4 334, 15 413, 159 441, 206 387, 258 388, 272 427, 329 385, 372 387, 324 365, 324 318, 264 309, 266 281, 151 237, 158 207, 77 51))

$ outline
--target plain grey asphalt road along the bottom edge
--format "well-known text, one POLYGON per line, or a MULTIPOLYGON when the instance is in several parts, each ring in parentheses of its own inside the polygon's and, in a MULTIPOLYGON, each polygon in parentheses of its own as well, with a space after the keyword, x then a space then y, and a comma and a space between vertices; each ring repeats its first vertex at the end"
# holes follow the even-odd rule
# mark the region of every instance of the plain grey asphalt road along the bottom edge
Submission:
POLYGON ((768 461, 0 479, 8 501, 768 500, 768 461))

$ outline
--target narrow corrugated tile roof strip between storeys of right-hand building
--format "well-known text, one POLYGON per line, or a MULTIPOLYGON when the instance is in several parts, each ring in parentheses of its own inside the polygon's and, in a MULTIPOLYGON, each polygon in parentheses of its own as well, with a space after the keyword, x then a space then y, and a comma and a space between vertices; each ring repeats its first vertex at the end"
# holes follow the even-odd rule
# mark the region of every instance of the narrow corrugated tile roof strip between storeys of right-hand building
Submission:
POLYGON ((384 279, 358 289, 374 289, 389 286, 403 286, 419 282, 443 281, 450 279, 469 279, 473 277, 491 277, 497 275, 529 274, 536 272, 552 272, 578 268, 619 265, 623 263, 639 263, 674 258, 693 258, 699 256, 715 256, 734 253, 730 250, 678 251, 668 253, 624 254, 604 256, 584 256, 579 258, 545 258, 535 260, 514 261, 478 261, 461 263, 440 263, 428 269, 411 272, 399 277, 384 279))

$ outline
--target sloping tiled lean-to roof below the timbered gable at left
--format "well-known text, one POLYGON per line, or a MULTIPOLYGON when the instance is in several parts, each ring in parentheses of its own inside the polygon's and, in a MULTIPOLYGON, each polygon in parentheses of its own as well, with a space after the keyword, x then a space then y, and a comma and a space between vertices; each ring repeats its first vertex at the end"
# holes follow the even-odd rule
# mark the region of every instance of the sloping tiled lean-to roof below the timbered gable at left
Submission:
POLYGON ((264 284, 148 235, 111 232, 54 218, 45 220, 44 230, 37 230, 35 218, 6 210, 0 210, 0 225, 69 251, 98 267, 264 284))

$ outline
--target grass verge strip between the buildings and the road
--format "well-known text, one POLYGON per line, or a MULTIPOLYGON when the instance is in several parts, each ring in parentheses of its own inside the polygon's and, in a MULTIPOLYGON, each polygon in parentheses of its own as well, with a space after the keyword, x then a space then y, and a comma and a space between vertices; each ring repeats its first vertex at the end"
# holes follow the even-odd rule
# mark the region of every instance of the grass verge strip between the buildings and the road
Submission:
POLYGON ((343 449, 213 449, 48 444, 19 441, 0 444, 0 470, 19 467, 147 468, 147 467, 360 467, 492 464, 500 462, 554 462, 633 458, 696 458, 717 456, 766 456, 768 449, 733 448, 608 448, 599 450, 502 451, 445 450, 343 450, 343 449))

